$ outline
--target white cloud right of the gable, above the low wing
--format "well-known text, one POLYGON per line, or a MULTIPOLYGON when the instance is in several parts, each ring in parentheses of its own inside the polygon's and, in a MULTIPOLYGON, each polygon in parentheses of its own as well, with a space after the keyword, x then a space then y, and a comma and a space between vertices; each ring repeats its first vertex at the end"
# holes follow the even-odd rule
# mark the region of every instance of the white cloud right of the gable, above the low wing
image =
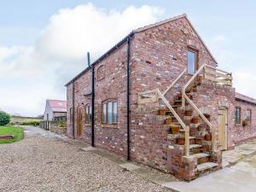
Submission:
POLYGON ((218 67, 233 74, 233 86, 236 91, 256 98, 256 57, 248 56, 246 51, 241 52, 229 45, 233 39, 224 35, 217 35, 209 40, 212 54, 218 61, 218 67))

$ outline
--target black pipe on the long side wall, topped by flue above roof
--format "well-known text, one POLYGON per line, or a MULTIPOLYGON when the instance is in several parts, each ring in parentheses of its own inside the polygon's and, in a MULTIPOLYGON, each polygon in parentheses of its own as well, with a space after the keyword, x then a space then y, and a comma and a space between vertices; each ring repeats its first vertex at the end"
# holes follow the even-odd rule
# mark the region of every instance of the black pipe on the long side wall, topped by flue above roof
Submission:
MULTIPOLYGON (((90 53, 87 52, 88 66, 90 66, 90 53)), ((94 65, 91 67, 91 146, 95 146, 95 135, 94 135, 94 105, 95 105, 95 72, 94 65)))

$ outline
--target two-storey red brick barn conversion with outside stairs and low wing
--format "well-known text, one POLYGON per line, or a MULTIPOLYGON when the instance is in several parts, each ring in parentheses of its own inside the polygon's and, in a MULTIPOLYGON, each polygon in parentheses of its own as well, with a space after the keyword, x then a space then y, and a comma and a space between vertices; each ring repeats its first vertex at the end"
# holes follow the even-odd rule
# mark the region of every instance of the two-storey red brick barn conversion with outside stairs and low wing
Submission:
POLYGON ((237 94, 186 15, 131 32, 67 86, 67 135, 191 180, 256 137, 237 94))

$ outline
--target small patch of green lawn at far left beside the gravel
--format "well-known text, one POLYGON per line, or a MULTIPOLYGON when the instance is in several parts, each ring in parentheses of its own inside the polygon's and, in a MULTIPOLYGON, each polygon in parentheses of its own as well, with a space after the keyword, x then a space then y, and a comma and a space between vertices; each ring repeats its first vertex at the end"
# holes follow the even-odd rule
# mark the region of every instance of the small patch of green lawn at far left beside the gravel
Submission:
POLYGON ((22 127, 0 126, 0 135, 14 135, 13 139, 0 139, 0 144, 15 143, 23 139, 24 130, 22 127))

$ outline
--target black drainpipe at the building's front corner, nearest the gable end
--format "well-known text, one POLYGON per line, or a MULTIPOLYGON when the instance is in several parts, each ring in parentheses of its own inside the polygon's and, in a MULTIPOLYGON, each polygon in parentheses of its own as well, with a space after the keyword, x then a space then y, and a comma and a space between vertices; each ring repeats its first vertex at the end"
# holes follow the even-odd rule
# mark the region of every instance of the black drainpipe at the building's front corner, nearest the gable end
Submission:
POLYGON ((127 38, 127 160, 130 160, 130 44, 131 38, 127 38))

